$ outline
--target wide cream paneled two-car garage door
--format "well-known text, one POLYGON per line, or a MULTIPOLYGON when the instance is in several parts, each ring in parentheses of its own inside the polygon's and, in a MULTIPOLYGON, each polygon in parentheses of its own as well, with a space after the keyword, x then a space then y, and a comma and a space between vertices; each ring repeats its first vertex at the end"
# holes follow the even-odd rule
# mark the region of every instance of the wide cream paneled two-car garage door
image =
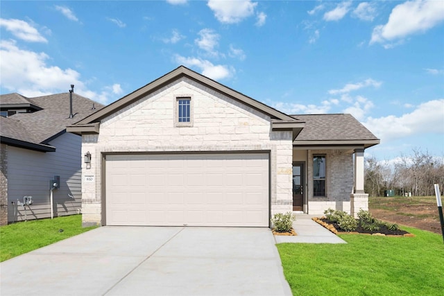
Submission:
POLYGON ((268 227, 267 153, 107 155, 106 225, 268 227))

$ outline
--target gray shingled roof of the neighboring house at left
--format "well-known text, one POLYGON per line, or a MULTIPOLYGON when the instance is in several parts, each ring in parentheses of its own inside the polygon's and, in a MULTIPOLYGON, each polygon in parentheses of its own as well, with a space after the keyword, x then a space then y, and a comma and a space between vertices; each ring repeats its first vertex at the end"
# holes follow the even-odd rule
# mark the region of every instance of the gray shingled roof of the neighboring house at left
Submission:
MULTIPOLYGON (((3 94, 0 96, 0 106, 17 107, 23 104, 37 106, 42 110, 32 113, 17 113, 8 118, 1 118, 1 142, 15 144, 29 143, 34 148, 37 145, 51 147, 49 141, 66 131, 71 125, 86 116, 100 110, 104 106, 78 94, 73 94, 73 118, 69 118, 69 93, 26 98, 20 94, 3 94), (94 104, 95 109, 92 109, 94 104)), ((26 146, 26 145, 25 145, 26 146)), ((28 148, 32 148, 29 146, 28 148)), ((38 149, 37 149, 38 150, 38 149)))

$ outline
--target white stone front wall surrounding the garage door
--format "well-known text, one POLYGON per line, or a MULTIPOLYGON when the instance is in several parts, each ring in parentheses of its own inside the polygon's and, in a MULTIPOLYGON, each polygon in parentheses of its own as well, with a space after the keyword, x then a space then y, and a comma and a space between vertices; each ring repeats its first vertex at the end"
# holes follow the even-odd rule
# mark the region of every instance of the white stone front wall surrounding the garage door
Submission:
POLYGON ((101 121, 100 134, 84 134, 82 155, 92 154, 82 186, 83 225, 102 224, 103 155, 185 151, 270 151, 271 214, 291 211, 292 132, 271 131, 269 116, 180 78, 101 121), (192 127, 174 126, 176 96, 191 96, 192 127))

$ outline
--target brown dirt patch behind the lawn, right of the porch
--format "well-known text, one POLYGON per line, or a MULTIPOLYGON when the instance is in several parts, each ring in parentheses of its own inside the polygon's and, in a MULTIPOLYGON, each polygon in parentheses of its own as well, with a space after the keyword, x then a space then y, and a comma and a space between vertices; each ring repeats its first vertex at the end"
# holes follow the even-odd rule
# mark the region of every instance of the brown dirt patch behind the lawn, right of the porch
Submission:
POLYGON ((433 196, 369 198, 368 207, 370 213, 379 220, 441 234, 438 208, 433 196))

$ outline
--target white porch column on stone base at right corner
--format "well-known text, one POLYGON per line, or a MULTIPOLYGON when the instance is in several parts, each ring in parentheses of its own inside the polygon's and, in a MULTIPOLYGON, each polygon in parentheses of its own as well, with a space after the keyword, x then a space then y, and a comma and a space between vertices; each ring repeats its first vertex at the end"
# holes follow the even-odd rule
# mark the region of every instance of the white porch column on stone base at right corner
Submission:
POLYGON ((368 194, 364 192, 364 148, 355 149, 355 190, 350 195, 350 215, 357 218, 360 209, 368 211, 368 194))

